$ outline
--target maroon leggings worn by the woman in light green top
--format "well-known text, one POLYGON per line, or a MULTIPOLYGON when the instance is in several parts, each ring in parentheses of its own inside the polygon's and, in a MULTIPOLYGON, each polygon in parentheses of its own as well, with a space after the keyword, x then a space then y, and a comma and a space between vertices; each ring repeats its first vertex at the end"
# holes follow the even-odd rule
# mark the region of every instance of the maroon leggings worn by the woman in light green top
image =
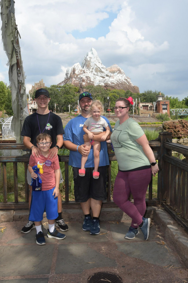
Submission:
POLYGON ((146 210, 145 197, 151 176, 151 168, 117 173, 113 201, 132 218, 131 227, 137 228, 142 223, 142 217, 146 210), (133 196, 134 204, 128 200, 130 193, 133 196))

